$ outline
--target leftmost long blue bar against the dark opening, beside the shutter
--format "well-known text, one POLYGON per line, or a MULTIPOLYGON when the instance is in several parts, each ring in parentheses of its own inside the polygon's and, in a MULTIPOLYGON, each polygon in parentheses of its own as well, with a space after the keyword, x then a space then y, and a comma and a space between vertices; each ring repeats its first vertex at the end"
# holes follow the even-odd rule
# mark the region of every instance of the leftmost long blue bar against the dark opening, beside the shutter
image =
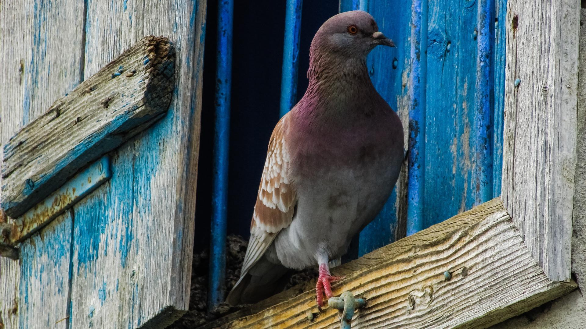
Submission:
POLYGON ((226 227, 228 201, 228 148, 230 134, 230 87, 232 70, 233 0, 218 2, 216 124, 214 133, 212 237, 207 307, 224 301, 226 276, 226 227))

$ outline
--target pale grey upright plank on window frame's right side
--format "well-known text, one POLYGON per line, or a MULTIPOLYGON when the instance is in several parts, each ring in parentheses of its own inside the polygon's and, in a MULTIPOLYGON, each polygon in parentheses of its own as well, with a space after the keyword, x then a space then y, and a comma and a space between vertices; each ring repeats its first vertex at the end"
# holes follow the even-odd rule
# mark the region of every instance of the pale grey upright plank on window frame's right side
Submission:
POLYGON ((569 280, 580 4, 507 8, 502 198, 546 275, 569 280))

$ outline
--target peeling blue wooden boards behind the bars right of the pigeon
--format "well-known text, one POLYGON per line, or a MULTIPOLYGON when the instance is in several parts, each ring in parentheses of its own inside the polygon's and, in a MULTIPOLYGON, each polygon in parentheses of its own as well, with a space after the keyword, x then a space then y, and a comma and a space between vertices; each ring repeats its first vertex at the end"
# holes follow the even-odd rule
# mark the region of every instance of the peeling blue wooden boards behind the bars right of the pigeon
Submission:
MULTIPOLYGON (((468 210, 476 197, 485 201, 500 194, 505 29, 499 29, 493 19, 505 19, 506 1, 343 0, 340 8, 359 9, 362 4, 370 9, 379 30, 396 33, 389 35, 397 43, 396 52, 376 48, 367 66, 373 84, 391 107, 405 108, 410 102, 407 197, 408 234, 413 234, 468 210), (478 15, 494 8, 492 18, 490 12, 483 18, 493 35, 485 35, 478 15), (477 43, 493 52, 490 61, 477 61, 477 43), (389 70, 389 63, 396 71, 389 70), (493 100, 490 95, 479 96, 476 81, 481 73, 485 77, 482 88, 494 90, 493 100), (481 152, 482 161, 477 158, 481 152), (475 181, 482 182, 481 193, 473 193, 475 181)), ((398 210, 391 203, 395 201, 391 196, 379 216, 364 228, 360 255, 393 241, 398 210)))

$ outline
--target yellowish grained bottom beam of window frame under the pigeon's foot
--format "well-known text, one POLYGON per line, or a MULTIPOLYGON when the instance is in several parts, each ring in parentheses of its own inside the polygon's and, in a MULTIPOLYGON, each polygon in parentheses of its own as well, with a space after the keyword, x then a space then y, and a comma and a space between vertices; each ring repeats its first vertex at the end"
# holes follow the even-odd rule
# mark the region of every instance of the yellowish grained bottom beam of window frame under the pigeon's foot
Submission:
MULTIPOLYGON (((486 328, 576 287, 547 278, 498 199, 332 272, 345 276, 334 294, 350 290, 366 299, 352 328, 486 328)), ((294 287, 203 328, 338 327, 336 310, 317 310, 312 287, 294 287)))

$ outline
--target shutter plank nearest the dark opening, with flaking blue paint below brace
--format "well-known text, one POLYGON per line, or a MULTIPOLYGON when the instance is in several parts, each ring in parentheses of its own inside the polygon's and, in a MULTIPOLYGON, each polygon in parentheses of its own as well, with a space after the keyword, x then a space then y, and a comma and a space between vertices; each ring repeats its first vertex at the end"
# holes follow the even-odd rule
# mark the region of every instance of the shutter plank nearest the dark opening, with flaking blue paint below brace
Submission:
POLYGON ((73 207, 70 328, 162 328, 188 309, 205 12, 87 1, 85 76, 151 34, 175 46, 176 76, 166 115, 112 152, 112 178, 73 207))

